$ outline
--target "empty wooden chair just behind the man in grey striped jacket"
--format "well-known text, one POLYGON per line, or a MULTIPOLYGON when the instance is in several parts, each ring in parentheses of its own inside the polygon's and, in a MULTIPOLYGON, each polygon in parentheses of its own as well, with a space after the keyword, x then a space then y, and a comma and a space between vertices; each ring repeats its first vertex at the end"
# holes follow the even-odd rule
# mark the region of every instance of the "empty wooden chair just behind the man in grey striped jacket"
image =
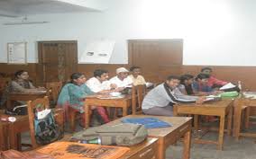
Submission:
POLYGON ((144 84, 133 85, 132 88, 132 107, 133 115, 142 114, 142 101, 146 95, 147 88, 144 84))

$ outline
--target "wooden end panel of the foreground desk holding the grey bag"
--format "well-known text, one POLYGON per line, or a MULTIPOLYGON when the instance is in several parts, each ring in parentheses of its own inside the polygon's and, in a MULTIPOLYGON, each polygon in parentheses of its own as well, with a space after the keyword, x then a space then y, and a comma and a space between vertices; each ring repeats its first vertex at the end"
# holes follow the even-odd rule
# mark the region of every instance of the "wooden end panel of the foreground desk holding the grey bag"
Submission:
MULTIPOLYGON (((158 142, 154 142, 150 146, 144 147, 135 155, 128 157, 129 159, 157 159, 158 156, 158 142)), ((128 159, 127 158, 127 159, 128 159)))

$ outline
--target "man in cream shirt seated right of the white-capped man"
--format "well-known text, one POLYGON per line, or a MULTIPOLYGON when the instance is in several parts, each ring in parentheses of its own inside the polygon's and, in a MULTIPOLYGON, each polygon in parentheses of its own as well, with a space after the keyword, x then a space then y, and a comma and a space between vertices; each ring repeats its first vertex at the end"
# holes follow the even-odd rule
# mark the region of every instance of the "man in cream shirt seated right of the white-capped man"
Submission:
POLYGON ((144 77, 141 75, 140 66, 132 66, 130 72, 132 75, 129 75, 129 77, 133 80, 133 85, 146 84, 144 77))

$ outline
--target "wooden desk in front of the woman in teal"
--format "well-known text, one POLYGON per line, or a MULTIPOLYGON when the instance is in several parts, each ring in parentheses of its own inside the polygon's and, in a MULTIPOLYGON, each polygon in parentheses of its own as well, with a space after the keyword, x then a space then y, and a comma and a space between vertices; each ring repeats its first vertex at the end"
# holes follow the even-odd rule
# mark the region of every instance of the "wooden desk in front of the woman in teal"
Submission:
POLYGON ((123 109, 123 117, 127 115, 128 107, 132 105, 132 96, 125 95, 119 99, 99 99, 96 97, 87 97, 85 101, 85 128, 89 127, 90 123, 90 106, 101 106, 101 107, 114 107, 123 109))

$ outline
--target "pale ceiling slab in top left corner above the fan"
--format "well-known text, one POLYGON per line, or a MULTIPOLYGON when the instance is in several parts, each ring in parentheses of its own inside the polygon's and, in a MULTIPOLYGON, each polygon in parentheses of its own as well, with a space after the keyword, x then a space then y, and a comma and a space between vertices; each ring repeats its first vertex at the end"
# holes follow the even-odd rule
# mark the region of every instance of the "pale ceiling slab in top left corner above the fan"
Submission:
POLYGON ((0 16, 101 11, 100 0, 0 0, 0 16))

